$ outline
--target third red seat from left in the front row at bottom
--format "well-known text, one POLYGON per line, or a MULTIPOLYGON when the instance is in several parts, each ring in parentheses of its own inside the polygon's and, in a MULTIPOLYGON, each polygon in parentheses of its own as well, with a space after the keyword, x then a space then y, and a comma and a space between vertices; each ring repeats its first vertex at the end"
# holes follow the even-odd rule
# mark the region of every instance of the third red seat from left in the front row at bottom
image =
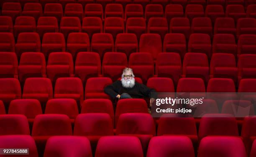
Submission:
POLYGON ((109 136, 100 138, 95 157, 113 156, 143 157, 140 140, 136 137, 125 136, 109 136))

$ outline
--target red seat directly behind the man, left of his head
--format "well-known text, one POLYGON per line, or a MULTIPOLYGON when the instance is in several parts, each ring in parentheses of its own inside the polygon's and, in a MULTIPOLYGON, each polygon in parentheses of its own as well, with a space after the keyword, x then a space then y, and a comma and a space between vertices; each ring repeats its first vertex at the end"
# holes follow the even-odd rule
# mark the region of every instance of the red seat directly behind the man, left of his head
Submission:
POLYGON ((116 81, 127 66, 128 61, 124 53, 107 52, 102 61, 102 75, 116 81))

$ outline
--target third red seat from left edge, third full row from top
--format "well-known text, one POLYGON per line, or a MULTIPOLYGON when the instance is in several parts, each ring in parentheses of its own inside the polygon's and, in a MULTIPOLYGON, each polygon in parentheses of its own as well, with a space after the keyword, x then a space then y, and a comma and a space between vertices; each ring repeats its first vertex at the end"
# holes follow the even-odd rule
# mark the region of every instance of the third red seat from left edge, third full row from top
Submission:
POLYGON ((42 40, 42 50, 44 56, 48 58, 51 52, 65 52, 66 42, 62 33, 45 33, 42 40))

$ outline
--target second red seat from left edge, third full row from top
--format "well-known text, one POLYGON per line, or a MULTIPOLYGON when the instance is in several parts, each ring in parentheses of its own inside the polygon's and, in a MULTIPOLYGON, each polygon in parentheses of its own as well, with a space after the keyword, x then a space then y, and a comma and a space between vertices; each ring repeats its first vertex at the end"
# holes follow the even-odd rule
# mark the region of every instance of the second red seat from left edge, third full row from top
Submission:
POLYGON ((18 58, 24 52, 41 52, 41 41, 38 33, 20 33, 15 48, 18 58))

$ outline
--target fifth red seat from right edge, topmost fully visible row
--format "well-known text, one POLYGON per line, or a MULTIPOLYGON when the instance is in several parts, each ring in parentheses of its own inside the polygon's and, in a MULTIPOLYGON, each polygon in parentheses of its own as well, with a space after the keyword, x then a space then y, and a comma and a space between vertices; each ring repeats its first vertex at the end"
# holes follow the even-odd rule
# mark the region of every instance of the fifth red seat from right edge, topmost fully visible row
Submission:
POLYGON ((172 18, 183 18, 184 11, 183 11, 182 5, 179 5, 179 4, 166 5, 164 10, 164 17, 167 19, 168 24, 171 22, 172 18))

